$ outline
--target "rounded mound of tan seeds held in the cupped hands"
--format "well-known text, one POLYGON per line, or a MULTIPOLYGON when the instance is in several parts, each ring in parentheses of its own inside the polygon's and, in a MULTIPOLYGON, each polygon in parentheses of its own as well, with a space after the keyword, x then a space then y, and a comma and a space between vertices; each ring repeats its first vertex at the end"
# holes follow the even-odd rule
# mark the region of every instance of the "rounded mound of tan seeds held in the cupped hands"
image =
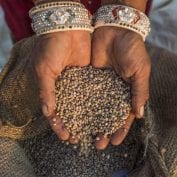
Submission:
POLYGON ((56 82, 55 109, 85 153, 96 135, 112 135, 125 124, 130 87, 111 69, 67 68, 56 82))

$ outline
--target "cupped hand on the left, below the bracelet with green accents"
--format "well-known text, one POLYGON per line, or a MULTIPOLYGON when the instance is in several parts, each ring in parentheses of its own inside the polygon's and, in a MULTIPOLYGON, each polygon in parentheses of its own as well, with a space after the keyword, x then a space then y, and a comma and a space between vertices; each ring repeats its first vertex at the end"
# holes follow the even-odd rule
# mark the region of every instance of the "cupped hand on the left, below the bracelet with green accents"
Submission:
POLYGON ((57 32, 38 37, 34 65, 38 78, 42 111, 62 140, 74 140, 54 113, 55 81, 67 66, 90 64, 91 39, 85 31, 57 32))

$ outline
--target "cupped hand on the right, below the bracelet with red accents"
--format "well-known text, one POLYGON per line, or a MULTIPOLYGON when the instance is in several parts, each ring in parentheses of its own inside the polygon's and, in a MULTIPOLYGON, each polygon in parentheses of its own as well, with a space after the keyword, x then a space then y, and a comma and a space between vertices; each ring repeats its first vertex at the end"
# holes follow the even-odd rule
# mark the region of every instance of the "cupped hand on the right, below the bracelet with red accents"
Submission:
POLYGON ((104 149, 110 140, 113 145, 119 145, 126 137, 135 116, 143 116, 144 105, 149 97, 151 65, 141 36, 117 27, 101 27, 94 32, 91 64, 97 68, 113 68, 131 84, 132 113, 111 139, 104 136, 98 138, 97 148, 104 149))

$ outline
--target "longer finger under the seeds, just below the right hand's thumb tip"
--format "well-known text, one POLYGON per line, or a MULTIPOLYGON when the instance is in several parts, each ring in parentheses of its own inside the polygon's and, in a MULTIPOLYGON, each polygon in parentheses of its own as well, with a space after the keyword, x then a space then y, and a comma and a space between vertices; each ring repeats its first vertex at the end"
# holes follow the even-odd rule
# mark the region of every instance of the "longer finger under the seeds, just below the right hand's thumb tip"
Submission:
POLYGON ((119 130, 117 130, 116 133, 112 135, 111 143, 113 145, 120 145, 123 142, 123 140, 125 139, 125 137, 127 136, 130 130, 130 127, 133 123, 134 118, 135 118, 135 115, 131 113, 128 119, 126 120, 126 124, 123 125, 119 130))

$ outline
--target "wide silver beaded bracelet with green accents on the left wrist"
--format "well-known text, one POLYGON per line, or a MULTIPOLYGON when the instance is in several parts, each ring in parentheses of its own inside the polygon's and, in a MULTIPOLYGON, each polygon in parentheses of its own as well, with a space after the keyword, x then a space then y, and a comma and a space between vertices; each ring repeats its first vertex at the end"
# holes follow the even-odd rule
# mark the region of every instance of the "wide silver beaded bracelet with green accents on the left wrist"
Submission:
POLYGON ((37 35, 68 30, 93 32, 89 12, 80 3, 46 3, 31 9, 29 15, 37 35))

